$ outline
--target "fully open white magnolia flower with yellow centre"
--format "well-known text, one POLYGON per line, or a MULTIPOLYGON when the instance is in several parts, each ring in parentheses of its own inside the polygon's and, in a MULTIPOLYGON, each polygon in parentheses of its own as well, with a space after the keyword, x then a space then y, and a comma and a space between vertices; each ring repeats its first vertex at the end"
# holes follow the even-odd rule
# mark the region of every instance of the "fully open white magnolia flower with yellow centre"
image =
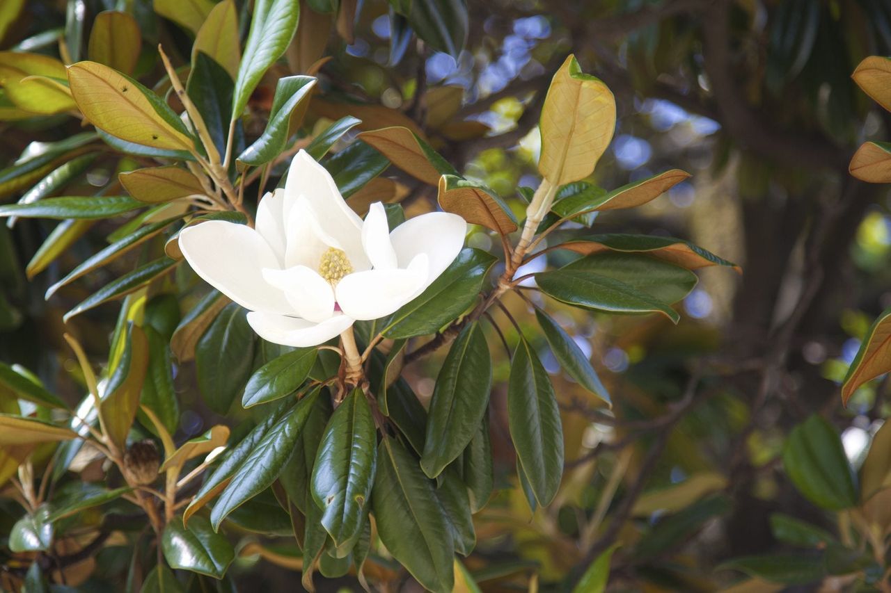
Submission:
POLYGON ((446 270, 467 232, 461 216, 445 212, 389 232, 380 202, 363 221, 304 150, 284 190, 260 201, 256 226, 196 224, 179 247, 201 278, 249 309, 260 337, 290 346, 322 344, 356 320, 395 312, 446 270))

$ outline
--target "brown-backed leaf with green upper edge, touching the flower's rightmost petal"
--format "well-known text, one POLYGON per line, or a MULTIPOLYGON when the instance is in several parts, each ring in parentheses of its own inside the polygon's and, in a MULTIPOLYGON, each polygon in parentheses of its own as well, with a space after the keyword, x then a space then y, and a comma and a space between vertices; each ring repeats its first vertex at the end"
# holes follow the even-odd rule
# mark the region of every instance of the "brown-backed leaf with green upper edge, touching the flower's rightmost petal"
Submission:
POLYGON ((517 230, 508 207, 486 188, 454 175, 443 175, 439 178, 438 189, 439 206, 446 212, 503 235, 517 230))

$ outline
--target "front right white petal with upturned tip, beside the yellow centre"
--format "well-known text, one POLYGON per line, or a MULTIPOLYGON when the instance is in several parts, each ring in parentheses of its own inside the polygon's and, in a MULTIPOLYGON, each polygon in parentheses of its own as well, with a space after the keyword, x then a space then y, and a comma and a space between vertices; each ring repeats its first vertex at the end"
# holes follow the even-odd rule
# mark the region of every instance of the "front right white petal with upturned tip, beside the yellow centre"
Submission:
POLYGON ((427 287, 428 259, 416 256, 403 270, 369 270, 345 276, 334 288, 340 310, 368 321, 394 313, 427 287))

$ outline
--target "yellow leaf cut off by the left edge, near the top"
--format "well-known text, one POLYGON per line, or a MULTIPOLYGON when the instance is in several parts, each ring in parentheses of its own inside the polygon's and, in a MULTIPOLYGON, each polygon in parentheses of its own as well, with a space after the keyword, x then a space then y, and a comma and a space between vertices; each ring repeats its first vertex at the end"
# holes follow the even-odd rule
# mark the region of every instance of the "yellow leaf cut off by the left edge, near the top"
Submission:
POLYGON ((0 85, 6 97, 21 110, 52 115, 74 110, 76 105, 65 79, 61 61, 40 53, 0 52, 0 85))

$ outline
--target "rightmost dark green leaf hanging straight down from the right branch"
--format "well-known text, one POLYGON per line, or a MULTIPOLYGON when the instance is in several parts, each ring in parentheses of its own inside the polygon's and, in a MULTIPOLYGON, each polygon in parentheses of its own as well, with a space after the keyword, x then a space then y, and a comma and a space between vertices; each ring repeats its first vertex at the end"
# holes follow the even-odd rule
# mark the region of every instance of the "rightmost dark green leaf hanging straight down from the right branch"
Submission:
POLYGON ((523 338, 511 361, 507 413, 519 464, 535 499, 547 506, 563 475, 563 426, 551 378, 523 338))

